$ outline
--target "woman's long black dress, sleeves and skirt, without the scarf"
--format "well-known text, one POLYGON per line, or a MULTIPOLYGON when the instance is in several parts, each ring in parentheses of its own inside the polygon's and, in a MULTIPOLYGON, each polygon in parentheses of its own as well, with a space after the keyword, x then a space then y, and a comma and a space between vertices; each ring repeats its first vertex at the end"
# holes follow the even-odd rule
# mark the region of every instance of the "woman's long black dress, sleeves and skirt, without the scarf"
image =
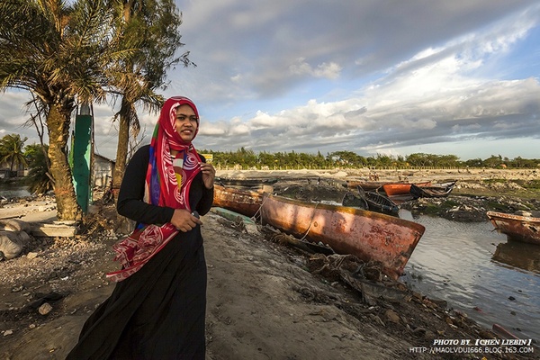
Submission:
MULTIPOLYGON (((174 209, 142 202, 148 146, 131 158, 121 184, 118 212, 138 223, 168 222, 174 209)), ((202 173, 193 179, 192 210, 210 211, 213 189, 202 173)), ((179 232, 145 266, 116 284, 86 320, 67 359, 204 359, 206 262, 201 227, 179 232)))

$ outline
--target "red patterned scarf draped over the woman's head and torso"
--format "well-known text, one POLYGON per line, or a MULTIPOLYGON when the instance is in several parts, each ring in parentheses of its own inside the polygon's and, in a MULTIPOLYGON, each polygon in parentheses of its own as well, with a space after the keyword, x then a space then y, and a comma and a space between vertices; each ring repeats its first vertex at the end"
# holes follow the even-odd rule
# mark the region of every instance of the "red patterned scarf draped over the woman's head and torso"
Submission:
MULTIPOLYGON (((157 206, 191 211, 189 189, 193 178, 201 171, 199 168, 201 158, 192 143, 184 142, 175 129, 176 108, 183 104, 188 104, 195 112, 197 129, 194 135, 197 135, 199 113, 195 104, 183 96, 167 99, 150 142, 143 201, 157 206), (171 150, 178 151, 175 158, 171 157, 171 150)), ((161 226, 139 224, 128 238, 112 246, 117 253, 114 260, 121 263, 121 270, 107 274, 107 278, 119 282, 135 274, 177 233, 178 229, 169 222, 161 226)))

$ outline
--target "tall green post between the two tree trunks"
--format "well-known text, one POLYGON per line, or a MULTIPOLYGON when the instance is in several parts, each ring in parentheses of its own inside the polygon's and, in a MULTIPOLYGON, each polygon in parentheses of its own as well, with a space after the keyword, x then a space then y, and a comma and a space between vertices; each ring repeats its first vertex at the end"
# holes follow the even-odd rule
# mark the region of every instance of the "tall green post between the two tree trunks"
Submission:
POLYGON ((83 212, 88 211, 91 194, 91 155, 92 155, 92 115, 79 113, 75 118, 75 134, 73 135, 73 182, 76 202, 83 212))

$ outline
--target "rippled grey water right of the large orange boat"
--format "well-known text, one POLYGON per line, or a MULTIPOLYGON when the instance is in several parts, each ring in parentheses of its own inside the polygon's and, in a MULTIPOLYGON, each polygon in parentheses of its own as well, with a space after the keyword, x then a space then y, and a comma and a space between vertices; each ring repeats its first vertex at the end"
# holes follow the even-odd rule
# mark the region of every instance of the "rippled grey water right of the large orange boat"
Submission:
MULTIPOLYGON (((401 218, 413 220, 410 211, 401 218)), ((401 280, 491 329, 540 339, 540 246, 509 242, 491 222, 421 216, 426 227, 401 280)))

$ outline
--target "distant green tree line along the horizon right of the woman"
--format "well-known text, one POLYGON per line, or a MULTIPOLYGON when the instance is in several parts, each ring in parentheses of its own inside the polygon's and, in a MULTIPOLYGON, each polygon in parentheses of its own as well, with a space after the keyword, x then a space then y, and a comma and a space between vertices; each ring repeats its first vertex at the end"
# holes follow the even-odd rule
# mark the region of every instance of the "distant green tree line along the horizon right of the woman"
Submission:
POLYGON ((363 157, 352 151, 335 151, 323 156, 303 152, 262 151, 256 153, 251 149, 238 148, 236 151, 202 150, 203 154, 211 154, 212 163, 219 169, 329 169, 329 168, 537 168, 540 159, 522 157, 501 157, 491 155, 486 159, 473 158, 460 160, 455 155, 434 155, 415 153, 409 156, 389 156, 377 154, 374 157, 363 157))

